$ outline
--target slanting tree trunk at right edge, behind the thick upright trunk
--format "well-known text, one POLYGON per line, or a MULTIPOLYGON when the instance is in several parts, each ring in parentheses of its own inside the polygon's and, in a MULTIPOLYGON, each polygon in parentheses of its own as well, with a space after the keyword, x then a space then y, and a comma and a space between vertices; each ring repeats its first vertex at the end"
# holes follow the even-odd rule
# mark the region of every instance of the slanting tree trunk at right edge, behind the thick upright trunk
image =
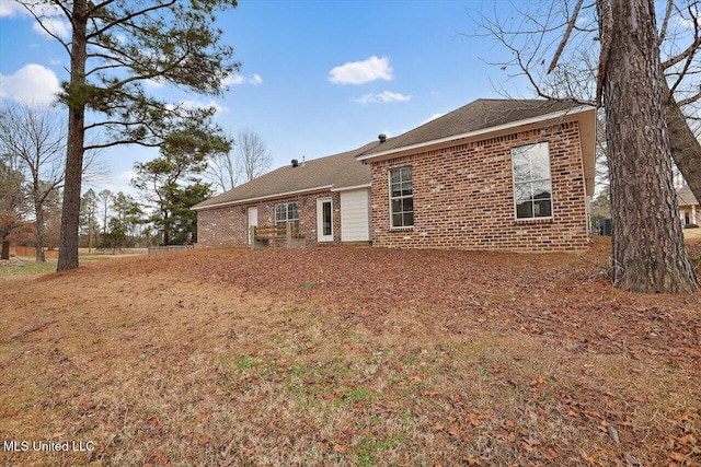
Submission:
POLYGON ((683 116, 675 97, 670 95, 667 80, 663 80, 665 96, 665 115, 669 128, 671 156, 677 168, 683 175, 693 196, 701 202, 701 144, 689 128, 687 117, 683 116))

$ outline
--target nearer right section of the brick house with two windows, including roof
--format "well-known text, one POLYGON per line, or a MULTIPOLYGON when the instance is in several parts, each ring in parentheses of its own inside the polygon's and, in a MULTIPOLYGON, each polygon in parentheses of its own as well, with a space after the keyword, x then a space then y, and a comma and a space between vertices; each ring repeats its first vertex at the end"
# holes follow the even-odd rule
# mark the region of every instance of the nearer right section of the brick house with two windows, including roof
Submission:
POLYGON ((595 112, 479 100, 369 148, 372 245, 585 249, 595 112))

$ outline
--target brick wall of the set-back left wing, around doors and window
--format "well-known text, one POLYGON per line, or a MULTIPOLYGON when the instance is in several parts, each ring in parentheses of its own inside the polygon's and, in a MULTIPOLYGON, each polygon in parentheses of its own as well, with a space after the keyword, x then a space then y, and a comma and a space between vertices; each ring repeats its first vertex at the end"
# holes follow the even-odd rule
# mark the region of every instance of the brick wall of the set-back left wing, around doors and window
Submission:
MULTIPOLYGON (((341 197, 338 192, 330 190, 228 206, 223 208, 204 209, 197 211, 197 246, 198 247, 232 247, 248 246, 249 208, 258 209, 258 225, 275 223, 275 205, 297 201, 299 208, 299 230, 307 234, 307 245, 323 246, 341 244, 341 197), (333 242, 317 242, 317 199, 332 198, 333 200, 333 242)), ((284 246, 284 241, 280 243, 284 246)))

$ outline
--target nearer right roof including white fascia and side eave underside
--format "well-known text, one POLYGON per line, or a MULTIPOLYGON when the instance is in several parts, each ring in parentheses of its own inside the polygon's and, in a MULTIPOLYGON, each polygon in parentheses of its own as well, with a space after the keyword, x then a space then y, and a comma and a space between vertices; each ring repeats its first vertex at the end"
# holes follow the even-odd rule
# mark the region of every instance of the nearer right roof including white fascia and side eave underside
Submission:
POLYGON ((572 102, 481 98, 358 154, 359 161, 381 161, 453 144, 458 140, 490 138, 515 128, 537 128, 579 119, 587 194, 594 192, 596 108, 572 102))

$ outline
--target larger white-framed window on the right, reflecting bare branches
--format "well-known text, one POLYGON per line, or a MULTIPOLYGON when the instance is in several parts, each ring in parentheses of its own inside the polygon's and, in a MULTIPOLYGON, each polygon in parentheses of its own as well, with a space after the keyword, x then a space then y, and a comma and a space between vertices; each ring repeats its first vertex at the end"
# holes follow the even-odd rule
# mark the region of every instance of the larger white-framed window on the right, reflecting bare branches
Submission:
POLYGON ((516 219, 552 217, 550 150, 547 142, 512 149, 516 219))

